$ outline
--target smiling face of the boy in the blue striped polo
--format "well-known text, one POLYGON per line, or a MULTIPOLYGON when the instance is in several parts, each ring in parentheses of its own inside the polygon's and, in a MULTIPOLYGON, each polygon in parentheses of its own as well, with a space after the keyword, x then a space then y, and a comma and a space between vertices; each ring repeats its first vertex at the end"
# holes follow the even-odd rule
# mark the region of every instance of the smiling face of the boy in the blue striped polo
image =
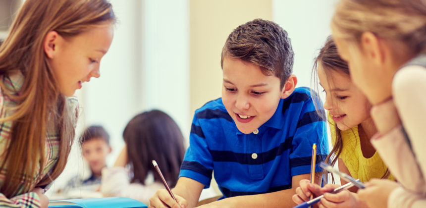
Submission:
POLYGON ((223 59, 222 102, 238 130, 250 134, 275 113, 281 98, 278 77, 267 76, 261 67, 229 56, 223 59))

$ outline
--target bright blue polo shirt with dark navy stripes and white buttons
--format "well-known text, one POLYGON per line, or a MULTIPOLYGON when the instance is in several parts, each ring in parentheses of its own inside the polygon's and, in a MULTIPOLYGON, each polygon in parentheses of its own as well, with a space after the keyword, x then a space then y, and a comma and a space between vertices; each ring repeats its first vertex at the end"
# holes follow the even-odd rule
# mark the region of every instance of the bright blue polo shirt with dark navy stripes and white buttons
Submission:
POLYGON ((179 177, 208 188, 214 171, 225 198, 270 193, 290 189, 292 176, 311 172, 314 143, 317 161, 328 154, 326 123, 309 88, 296 88, 281 99, 256 133, 240 132, 221 98, 210 101, 195 111, 179 177))

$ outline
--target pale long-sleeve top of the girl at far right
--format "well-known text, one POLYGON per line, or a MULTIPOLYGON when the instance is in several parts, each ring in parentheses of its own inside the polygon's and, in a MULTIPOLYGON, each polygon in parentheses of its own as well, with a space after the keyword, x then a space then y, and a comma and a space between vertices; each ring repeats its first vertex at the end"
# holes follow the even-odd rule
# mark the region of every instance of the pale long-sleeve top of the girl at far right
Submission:
POLYGON ((401 184, 390 194, 388 208, 425 208, 426 68, 409 65, 400 69, 392 81, 392 96, 393 100, 372 109, 379 132, 398 119, 403 124, 372 139, 373 146, 401 184))

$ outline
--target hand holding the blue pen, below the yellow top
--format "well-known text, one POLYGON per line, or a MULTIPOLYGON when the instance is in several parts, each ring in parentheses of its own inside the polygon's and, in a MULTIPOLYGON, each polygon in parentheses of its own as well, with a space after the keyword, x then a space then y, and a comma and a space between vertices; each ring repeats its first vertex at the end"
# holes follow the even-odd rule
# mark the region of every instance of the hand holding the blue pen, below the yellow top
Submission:
POLYGON ((318 207, 319 208, 358 208, 358 199, 349 192, 348 190, 342 190, 338 193, 332 194, 328 193, 333 191, 335 188, 338 188, 339 185, 336 184, 327 184, 321 191, 324 193, 324 198, 321 199, 318 207))

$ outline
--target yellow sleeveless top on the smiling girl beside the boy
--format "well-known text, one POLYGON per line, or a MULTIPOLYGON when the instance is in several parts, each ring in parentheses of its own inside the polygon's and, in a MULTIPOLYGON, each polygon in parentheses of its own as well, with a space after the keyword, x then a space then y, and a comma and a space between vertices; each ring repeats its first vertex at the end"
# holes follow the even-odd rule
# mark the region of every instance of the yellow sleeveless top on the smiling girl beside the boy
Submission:
MULTIPOLYGON (((335 122, 328 115, 330 125, 331 144, 336 143, 335 122)), ((377 152, 370 158, 365 158, 361 151, 360 136, 358 134, 358 126, 352 127, 346 131, 340 131, 343 141, 342 152, 339 158, 343 160, 349 173, 355 179, 360 179, 361 182, 367 182, 372 178, 381 178, 386 173, 387 166, 381 160, 377 152)), ((387 179, 395 180, 390 174, 387 179)))

